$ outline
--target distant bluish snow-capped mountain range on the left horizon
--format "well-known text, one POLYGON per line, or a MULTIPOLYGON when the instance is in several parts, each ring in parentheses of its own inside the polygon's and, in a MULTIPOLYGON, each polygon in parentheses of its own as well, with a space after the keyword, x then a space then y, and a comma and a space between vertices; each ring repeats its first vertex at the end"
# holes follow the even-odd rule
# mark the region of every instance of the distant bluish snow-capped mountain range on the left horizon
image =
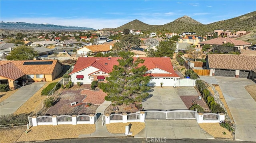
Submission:
POLYGON ((19 30, 96 30, 88 27, 62 26, 53 24, 30 24, 25 22, 0 22, 1 29, 19 30))

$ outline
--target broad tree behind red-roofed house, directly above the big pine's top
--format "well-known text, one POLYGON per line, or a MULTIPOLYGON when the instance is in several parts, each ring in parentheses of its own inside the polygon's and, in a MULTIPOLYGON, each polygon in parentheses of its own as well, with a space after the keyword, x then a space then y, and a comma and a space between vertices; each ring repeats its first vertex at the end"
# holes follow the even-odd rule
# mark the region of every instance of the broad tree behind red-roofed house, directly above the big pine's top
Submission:
POLYGON ((140 46, 140 38, 138 35, 127 34, 120 37, 120 43, 122 49, 131 51, 133 47, 140 46))

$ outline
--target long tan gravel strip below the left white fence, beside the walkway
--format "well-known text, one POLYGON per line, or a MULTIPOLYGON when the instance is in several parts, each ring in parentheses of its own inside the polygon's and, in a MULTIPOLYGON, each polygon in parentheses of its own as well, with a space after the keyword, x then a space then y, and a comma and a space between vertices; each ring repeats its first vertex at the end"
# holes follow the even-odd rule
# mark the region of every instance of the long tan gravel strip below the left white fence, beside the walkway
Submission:
POLYGON ((31 127, 28 133, 22 133, 17 141, 44 141, 49 139, 77 138, 80 134, 90 134, 95 125, 38 125, 31 127))

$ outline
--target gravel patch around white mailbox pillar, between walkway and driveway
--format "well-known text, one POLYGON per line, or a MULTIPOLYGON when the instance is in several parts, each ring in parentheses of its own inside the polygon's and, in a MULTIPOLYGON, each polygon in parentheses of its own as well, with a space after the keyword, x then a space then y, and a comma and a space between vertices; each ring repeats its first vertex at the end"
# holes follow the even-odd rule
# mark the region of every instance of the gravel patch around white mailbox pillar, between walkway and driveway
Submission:
POLYGON ((145 127, 145 123, 131 122, 131 123, 110 123, 106 124, 106 127, 110 133, 125 133, 125 126, 131 124, 130 131, 132 136, 139 133, 145 127))

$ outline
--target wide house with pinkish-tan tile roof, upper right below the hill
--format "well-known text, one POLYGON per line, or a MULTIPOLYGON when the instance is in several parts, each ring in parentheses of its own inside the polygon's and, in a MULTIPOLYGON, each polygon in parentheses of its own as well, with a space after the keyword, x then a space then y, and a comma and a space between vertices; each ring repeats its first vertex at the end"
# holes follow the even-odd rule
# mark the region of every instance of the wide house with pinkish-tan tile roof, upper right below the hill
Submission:
POLYGON ((209 45, 223 45, 225 43, 231 43, 234 44, 234 47, 236 47, 238 50, 243 49, 245 47, 249 47, 251 45, 251 43, 245 42, 245 41, 241 41, 241 40, 236 40, 236 39, 232 39, 232 38, 228 38, 228 37, 218 37, 218 38, 214 38, 214 39, 210 39, 207 41, 202 41, 198 44, 205 45, 205 44, 209 44, 209 45))

